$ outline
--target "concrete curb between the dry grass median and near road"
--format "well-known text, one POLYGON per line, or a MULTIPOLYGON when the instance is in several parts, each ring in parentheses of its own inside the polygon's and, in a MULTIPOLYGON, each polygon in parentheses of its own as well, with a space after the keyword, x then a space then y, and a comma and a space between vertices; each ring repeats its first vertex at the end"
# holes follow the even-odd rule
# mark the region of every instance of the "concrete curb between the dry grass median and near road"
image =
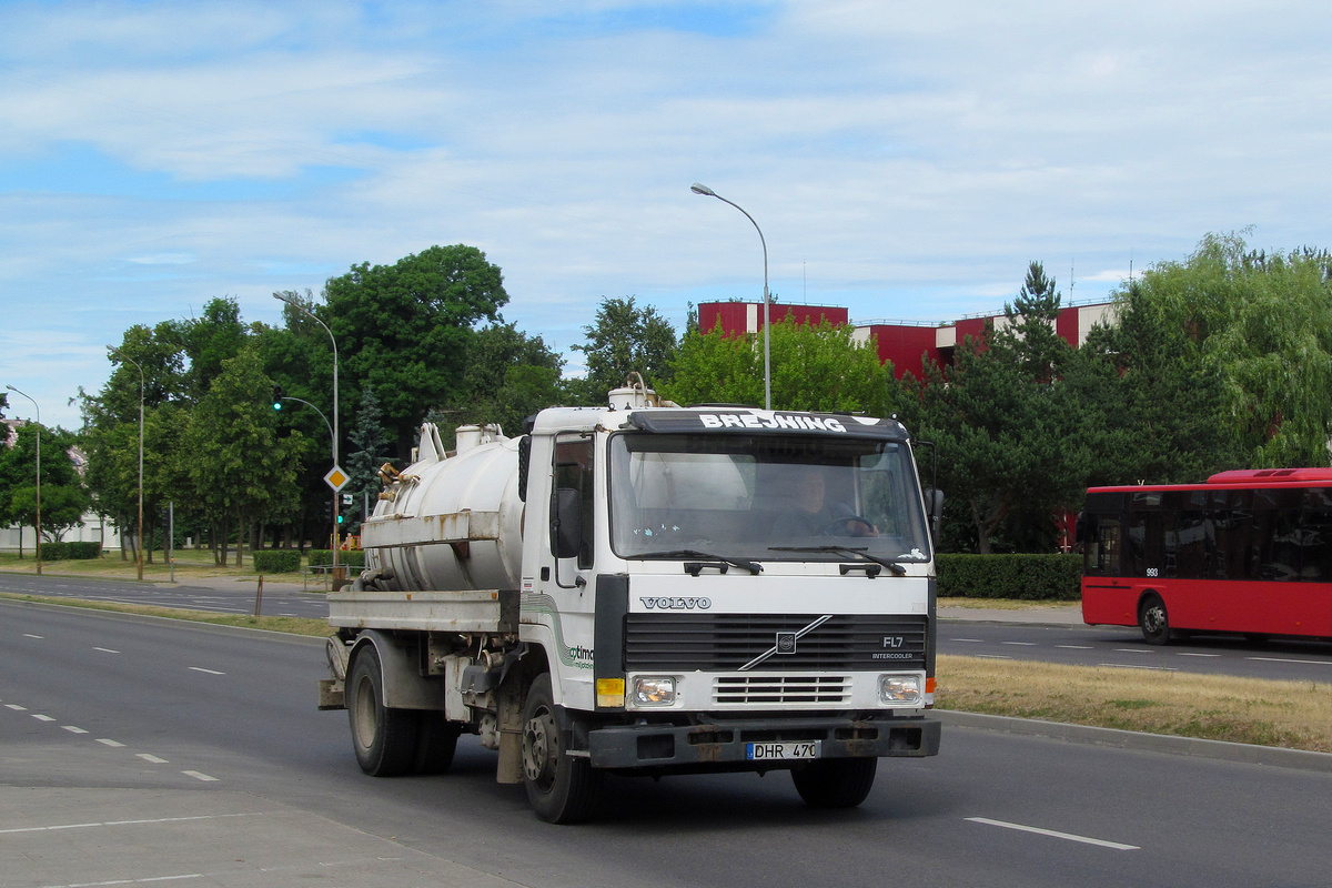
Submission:
POLYGON ((1119 750, 1164 752, 1167 755, 1187 755, 1199 759, 1265 764, 1277 768, 1299 768, 1303 771, 1332 774, 1332 752, 1285 750, 1272 746, 1204 740, 1201 738, 1181 738, 1168 734, 1143 734, 1140 731, 1098 728, 1088 724, 1066 724, 1062 722, 1018 719, 1007 715, 984 715, 982 712, 959 712, 954 710, 934 710, 932 715, 950 727, 978 728, 980 731, 996 731, 1022 736, 1043 736, 1067 743, 1108 746, 1119 750))

